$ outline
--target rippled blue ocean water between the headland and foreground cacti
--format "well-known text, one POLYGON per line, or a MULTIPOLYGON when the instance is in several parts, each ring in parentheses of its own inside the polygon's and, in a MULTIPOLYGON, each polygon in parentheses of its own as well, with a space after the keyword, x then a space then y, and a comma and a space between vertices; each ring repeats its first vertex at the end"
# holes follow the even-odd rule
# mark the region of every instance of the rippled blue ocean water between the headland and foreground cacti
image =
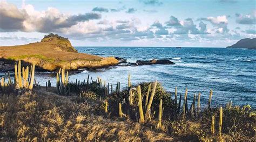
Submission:
MULTIPOLYGON (((188 102, 194 93, 201 93, 201 102, 207 104, 213 90, 212 104, 249 104, 256 107, 256 50, 227 48, 160 48, 160 47, 76 47, 79 52, 103 57, 122 57, 127 62, 136 60, 170 59, 174 65, 115 66, 96 71, 70 75, 70 81, 101 77, 107 83, 127 86, 130 73, 132 84, 158 80, 166 91, 185 93, 188 102)), ((36 79, 45 85, 56 82, 55 73, 37 73, 36 79)))

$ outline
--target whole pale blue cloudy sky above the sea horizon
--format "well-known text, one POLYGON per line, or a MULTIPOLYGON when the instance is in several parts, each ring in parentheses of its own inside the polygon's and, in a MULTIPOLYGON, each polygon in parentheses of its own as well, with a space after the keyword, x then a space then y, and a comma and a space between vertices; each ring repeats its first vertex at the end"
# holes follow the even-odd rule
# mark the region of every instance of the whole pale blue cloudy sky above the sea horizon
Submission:
POLYGON ((226 47, 255 24, 256 0, 0 0, 0 46, 52 32, 73 46, 226 47))

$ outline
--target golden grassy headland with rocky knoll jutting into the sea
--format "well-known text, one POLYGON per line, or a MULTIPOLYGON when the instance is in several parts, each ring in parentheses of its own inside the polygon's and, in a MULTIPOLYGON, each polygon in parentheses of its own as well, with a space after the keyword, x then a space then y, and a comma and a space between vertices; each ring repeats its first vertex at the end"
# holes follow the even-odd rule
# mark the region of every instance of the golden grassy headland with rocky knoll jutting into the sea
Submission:
MULTIPOLYGON (((71 45, 68 38, 50 33, 41 42, 17 46, 0 47, 0 69, 4 70, 6 63, 22 60, 24 63, 35 63, 37 69, 48 71, 58 70, 65 67, 67 70, 79 68, 99 68, 118 64, 113 57, 99 57, 78 53, 71 45)), ((8 68, 8 67, 7 67, 8 68)), ((8 69, 7 69, 8 70, 8 69)))

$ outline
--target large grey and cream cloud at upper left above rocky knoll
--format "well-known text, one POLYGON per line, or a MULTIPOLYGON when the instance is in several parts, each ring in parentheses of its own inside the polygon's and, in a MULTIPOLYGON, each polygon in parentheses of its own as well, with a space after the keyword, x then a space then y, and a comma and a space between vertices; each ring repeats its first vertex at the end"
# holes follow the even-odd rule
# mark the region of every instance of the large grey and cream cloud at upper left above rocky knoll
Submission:
POLYGON ((36 11, 32 5, 23 5, 18 9, 15 5, 5 1, 0 3, 0 31, 38 31, 59 32, 63 28, 70 28, 80 22, 100 19, 99 13, 84 13, 66 15, 58 9, 48 8, 45 11, 36 11))

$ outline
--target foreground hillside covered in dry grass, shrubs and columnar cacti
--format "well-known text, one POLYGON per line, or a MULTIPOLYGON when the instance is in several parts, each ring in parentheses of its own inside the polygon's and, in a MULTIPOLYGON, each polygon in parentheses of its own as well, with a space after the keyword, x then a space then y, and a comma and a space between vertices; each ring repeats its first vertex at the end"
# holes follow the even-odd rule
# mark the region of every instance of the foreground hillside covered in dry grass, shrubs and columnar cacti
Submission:
POLYGON ((50 80, 40 86, 31 83, 33 70, 21 76, 18 66, 15 82, 1 82, 0 141, 255 141, 255 110, 213 107, 212 90, 201 98, 208 102, 199 93, 188 104, 188 89, 171 95, 158 82, 132 84, 130 76, 123 89, 99 77, 69 82, 65 70, 56 87, 50 80))

